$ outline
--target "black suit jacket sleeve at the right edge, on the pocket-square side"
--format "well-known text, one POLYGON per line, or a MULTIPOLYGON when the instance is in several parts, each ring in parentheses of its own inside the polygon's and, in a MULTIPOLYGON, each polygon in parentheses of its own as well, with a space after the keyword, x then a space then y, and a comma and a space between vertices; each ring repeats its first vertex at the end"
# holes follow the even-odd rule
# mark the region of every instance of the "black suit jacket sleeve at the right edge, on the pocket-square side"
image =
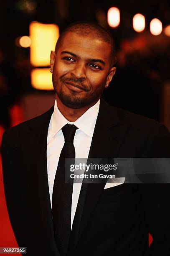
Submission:
MULTIPOLYGON (((164 125, 152 130, 143 157, 167 158, 170 164, 170 133, 164 125)), ((140 184, 140 192, 145 221, 153 238, 145 256, 169 256, 170 183, 140 184)))

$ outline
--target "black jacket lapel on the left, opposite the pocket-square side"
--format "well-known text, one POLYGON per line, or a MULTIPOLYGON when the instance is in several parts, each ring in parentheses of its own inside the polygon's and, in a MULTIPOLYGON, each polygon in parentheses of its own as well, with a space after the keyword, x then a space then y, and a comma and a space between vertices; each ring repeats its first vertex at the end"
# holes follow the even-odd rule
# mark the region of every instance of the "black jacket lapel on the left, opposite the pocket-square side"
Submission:
MULTIPOLYGON (((44 113, 40 117, 39 122, 33 122, 30 125, 30 130, 35 133, 34 138, 36 138, 35 145, 35 154, 36 159, 38 159, 38 165, 36 168, 36 175, 38 181, 38 194, 41 205, 41 214, 43 219, 43 227, 44 233, 46 234, 47 241, 51 250, 53 251, 55 256, 59 256, 60 253, 56 246, 56 242, 54 239, 54 231, 53 231, 53 220, 52 220, 52 210, 51 210, 51 202, 48 188, 48 174, 47 174, 47 135, 48 135, 48 126, 50 123, 51 115, 53 113, 54 106, 48 110, 48 112, 44 113)), ((33 149, 33 150, 35 150, 33 149)))

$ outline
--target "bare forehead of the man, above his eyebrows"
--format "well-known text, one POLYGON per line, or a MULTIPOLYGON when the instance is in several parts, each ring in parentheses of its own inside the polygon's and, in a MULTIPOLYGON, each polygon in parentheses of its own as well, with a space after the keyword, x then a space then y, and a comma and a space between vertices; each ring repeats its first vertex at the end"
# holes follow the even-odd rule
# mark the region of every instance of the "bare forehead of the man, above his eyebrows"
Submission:
POLYGON ((110 45, 101 39, 68 32, 57 52, 70 51, 82 58, 103 59, 105 63, 109 63, 110 49, 110 45))

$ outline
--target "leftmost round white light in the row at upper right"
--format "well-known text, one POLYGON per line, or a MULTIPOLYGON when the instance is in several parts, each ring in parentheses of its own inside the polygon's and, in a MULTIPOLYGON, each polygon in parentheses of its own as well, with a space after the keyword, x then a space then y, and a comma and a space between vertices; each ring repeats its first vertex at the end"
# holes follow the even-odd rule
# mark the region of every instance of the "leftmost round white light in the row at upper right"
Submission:
POLYGON ((115 28, 120 23, 120 11, 116 7, 111 7, 107 12, 107 22, 109 26, 115 28))

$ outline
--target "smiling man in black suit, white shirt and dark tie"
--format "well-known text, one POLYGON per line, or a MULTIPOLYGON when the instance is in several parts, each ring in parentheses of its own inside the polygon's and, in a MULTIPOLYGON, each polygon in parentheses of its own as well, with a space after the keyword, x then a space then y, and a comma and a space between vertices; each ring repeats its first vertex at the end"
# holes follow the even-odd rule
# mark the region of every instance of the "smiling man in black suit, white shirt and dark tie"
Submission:
POLYGON ((9 217, 29 256, 170 255, 169 184, 66 184, 63 178, 65 158, 170 157, 165 126, 100 99, 114 62, 104 28, 71 24, 51 51, 55 105, 4 133, 9 217))

